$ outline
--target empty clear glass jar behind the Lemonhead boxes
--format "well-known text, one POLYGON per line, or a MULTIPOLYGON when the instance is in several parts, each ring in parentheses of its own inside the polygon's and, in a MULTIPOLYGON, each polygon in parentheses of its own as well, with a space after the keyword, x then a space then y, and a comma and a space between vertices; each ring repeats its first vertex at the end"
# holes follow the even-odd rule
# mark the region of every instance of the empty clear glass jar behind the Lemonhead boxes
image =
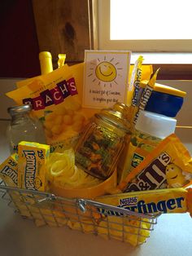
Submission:
POLYGON ((31 116, 32 107, 29 104, 14 106, 7 109, 11 122, 7 126, 7 139, 11 153, 17 152, 20 141, 46 143, 41 121, 31 116))

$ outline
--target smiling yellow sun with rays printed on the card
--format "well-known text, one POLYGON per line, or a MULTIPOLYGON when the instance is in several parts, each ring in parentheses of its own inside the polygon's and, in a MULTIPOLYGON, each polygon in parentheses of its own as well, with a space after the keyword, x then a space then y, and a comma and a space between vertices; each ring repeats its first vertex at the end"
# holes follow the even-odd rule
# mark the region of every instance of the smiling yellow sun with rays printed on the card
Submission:
POLYGON ((104 86, 117 85, 117 79, 122 77, 123 68, 115 57, 107 60, 107 56, 99 58, 89 63, 88 77, 92 77, 92 82, 103 83, 104 86))

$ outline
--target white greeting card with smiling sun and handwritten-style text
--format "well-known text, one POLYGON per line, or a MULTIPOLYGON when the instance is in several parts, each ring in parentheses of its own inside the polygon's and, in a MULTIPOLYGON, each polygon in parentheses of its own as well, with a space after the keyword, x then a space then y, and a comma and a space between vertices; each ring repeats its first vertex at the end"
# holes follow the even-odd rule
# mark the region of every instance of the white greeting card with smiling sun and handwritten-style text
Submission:
POLYGON ((126 103, 131 51, 85 51, 83 106, 126 103))

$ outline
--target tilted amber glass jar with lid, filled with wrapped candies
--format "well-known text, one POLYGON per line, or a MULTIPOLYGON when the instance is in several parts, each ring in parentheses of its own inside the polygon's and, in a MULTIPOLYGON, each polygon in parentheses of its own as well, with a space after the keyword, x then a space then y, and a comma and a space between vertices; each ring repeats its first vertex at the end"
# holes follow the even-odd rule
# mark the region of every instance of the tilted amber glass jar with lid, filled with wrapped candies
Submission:
POLYGON ((126 108, 117 103, 94 115, 76 145, 76 166, 98 179, 107 179, 113 173, 124 137, 130 133, 126 108))

